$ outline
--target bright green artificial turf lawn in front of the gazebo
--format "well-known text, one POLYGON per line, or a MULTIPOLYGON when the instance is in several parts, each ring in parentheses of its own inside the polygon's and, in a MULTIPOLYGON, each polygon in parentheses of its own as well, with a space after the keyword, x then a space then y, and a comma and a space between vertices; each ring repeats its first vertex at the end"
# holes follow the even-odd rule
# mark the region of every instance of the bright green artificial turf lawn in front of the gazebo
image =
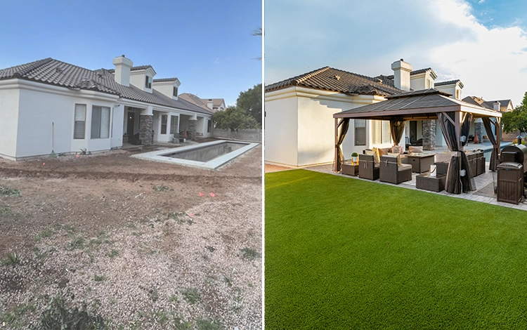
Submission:
POLYGON ((527 212, 265 177, 265 329, 527 329, 527 212))

